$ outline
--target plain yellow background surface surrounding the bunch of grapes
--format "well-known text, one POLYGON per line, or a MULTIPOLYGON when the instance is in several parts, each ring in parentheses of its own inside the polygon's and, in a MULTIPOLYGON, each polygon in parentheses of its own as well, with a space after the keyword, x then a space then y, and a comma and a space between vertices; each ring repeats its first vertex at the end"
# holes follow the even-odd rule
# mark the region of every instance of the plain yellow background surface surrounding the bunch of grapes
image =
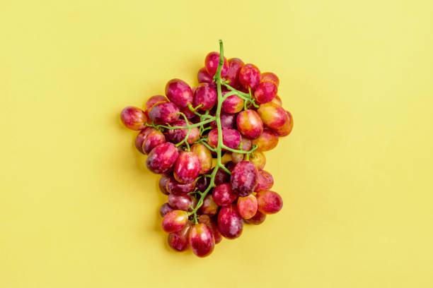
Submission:
POLYGON ((433 287, 432 1, 0 3, 0 287, 433 287), (294 131, 282 212, 200 259, 118 117, 220 38, 294 131))

